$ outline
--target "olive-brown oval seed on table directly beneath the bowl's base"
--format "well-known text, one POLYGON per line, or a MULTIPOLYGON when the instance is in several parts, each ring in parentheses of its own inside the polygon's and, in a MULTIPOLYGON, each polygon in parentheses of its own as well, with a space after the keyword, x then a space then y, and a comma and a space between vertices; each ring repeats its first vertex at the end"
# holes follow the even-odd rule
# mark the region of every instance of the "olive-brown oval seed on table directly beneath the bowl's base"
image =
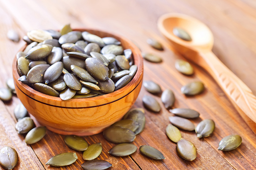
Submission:
POLYGON ((76 135, 67 135, 64 138, 64 142, 68 147, 76 150, 76 151, 85 151, 88 148, 87 142, 76 135))

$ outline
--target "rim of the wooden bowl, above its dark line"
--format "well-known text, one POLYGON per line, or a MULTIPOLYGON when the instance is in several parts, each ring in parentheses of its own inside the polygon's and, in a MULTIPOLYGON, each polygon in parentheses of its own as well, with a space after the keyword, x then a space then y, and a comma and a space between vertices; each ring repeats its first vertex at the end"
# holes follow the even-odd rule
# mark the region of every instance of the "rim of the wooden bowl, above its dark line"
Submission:
MULTIPOLYGON (((123 88, 118 89, 112 93, 108 93, 108 94, 97 96, 97 97, 69 99, 67 101, 64 101, 64 100, 61 100, 60 97, 49 96, 41 92, 38 92, 32 89, 31 87, 29 87, 27 84, 22 83, 21 81, 18 81, 18 78, 20 78, 20 76, 17 71, 17 59, 16 57, 14 57, 13 64, 12 64, 13 79, 14 79, 15 86, 22 93, 24 93, 29 98, 46 105, 51 105, 51 106, 60 107, 60 108, 81 109, 81 108, 98 107, 98 106, 116 102, 122 99, 123 97, 129 95, 134 89, 136 89, 139 86, 143 78, 143 58, 142 58, 140 49, 137 46, 135 46, 131 40, 121 35, 113 34, 110 32, 99 30, 99 29, 76 28, 76 29, 73 29, 73 31, 81 31, 81 32, 87 31, 95 35, 104 34, 104 36, 100 36, 100 37, 114 37, 117 40, 119 40, 123 46, 126 46, 125 49, 130 48, 132 50, 134 64, 137 65, 137 72, 132 78, 132 80, 123 88)), ((23 51, 26 48, 26 46, 27 44, 24 45, 18 52, 23 51)))

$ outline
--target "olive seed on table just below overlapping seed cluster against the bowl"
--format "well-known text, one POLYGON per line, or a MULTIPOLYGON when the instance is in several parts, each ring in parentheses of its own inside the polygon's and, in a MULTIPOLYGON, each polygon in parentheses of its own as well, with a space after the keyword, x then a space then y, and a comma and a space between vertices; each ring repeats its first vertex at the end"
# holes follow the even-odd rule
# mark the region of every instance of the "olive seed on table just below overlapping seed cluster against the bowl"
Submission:
POLYGON ((113 156, 128 156, 137 151, 137 146, 132 144, 118 144, 112 147, 108 153, 113 156))

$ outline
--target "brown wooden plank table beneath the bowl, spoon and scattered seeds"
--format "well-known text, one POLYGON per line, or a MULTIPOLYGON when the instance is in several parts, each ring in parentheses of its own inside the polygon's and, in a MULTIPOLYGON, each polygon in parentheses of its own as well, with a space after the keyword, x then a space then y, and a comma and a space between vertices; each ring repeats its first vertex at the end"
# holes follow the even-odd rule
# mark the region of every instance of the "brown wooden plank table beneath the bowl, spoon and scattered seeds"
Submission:
MULTIPOLYGON (((213 52, 256 94, 256 3, 252 0, 0 0, 0 87, 12 76, 12 60, 25 43, 13 43, 6 33, 17 30, 21 36, 32 29, 60 29, 71 23, 73 28, 90 27, 121 34, 135 41, 142 52, 158 54, 164 60, 160 64, 144 62, 144 80, 153 80, 162 89, 172 89, 175 107, 195 109, 200 118, 193 119, 194 124, 211 118, 216 129, 211 137, 197 139, 195 132, 181 131, 182 137, 190 140, 197 148, 197 158, 192 161, 181 159, 175 150, 175 143, 165 135, 172 114, 165 110, 159 96, 154 96, 162 106, 160 113, 146 110, 146 127, 137 135, 134 145, 150 145, 159 149, 165 160, 152 160, 140 154, 139 150, 127 157, 113 157, 108 150, 114 144, 107 142, 102 134, 84 137, 89 144, 101 142, 103 152, 98 159, 113 164, 113 170, 153 170, 153 169, 256 169, 256 136, 224 95, 220 87, 204 70, 196 65, 193 76, 180 74, 174 68, 174 61, 182 58, 167 43, 156 26, 157 18, 164 13, 180 12, 196 17, 210 27, 215 43, 213 52), (158 39, 164 45, 164 51, 157 51, 147 45, 148 37, 158 39), (206 86, 203 94, 186 97, 181 94, 182 85, 201 80, 206 86), (218 151, 219 141, 230 134, 242 137, 242 144, 233 151, 218 151)), ((142 87, 134 107, 142 106, 142 97, 150 95, 142 87)), ((14 107, 19 99, 0 101, 0 147, 12 146, 19 154, 18 165, 14 169, 81 169, 82 152, 76 152, 77 161, 66 167, 46 166, 52 156, 62 152, 74 152, 63 142, 63 136, 47 132, 38 143, 26 145, 24 136, 15 131, 14 107)), ((0 167, 1 169, 1 167, 0 167)))

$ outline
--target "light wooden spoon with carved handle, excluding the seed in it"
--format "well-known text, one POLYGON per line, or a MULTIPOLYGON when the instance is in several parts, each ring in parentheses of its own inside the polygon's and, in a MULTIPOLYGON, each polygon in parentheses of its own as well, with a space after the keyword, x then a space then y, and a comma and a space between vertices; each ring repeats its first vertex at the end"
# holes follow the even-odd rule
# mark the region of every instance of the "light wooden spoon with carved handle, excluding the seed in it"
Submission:
POLYGON ((252 94, 252 90, 212 53, 211 30, 201 21, 179 13, 161 16, 157 25, 177 51, 212 75, 256 134, 256 97, 252 94), (185 41, 175 36, 172 32, 174 27, 180 27, 188 32, 192 41, 185 41))

